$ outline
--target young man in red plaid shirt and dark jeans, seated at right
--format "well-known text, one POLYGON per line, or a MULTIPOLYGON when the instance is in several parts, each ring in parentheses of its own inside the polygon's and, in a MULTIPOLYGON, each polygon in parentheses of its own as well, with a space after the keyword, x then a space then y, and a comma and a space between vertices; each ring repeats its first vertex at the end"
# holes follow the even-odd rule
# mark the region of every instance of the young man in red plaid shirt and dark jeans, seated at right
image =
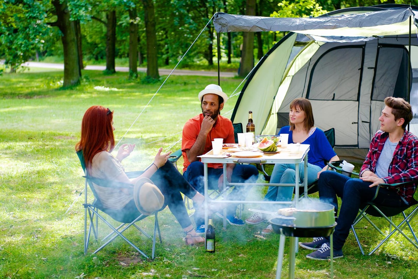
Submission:
MULTIPOLYGON (((334 259, 343 257, 346 241, 360 204, 373 199, 378 184, 411 182, 402 186, 379 189, 374 202, 377 205, 402 207, 413 199, 418 179, 418 138, 405 130, 412 120, 411 105, 402 98, 385 98, 385 108, 379 118, 380 130, 370 142, 370 149, 360 170, 360 178, 350 179, 336 171, 324 171, 319 176, 319 198, 334 205, 338 211, 337 196, 342 198, 340 213, 334 232, 334 259)), ((316 250, 308 259, 330 258, 329 238, 319 237, 299 246, 316 250)))

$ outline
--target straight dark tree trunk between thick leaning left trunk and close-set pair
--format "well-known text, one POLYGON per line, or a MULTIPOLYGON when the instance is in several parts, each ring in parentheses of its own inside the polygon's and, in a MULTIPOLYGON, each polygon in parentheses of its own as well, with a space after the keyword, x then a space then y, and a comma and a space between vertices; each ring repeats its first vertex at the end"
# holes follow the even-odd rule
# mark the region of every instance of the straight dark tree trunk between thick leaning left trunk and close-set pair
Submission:
POLYGON ((114 74, 115 53, 116 53, 116 10, 111 10, 106 14, 106 73, 114 74))

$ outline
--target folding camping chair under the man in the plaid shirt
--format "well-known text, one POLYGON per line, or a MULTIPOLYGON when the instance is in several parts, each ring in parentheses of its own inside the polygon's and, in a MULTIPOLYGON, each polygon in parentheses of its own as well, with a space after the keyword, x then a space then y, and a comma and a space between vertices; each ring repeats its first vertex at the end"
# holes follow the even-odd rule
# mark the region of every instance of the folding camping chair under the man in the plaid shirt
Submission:
MULTIPOLYGON (((328 166, 330 166, 334 171, 341 172, 342 174, 345 174, 349 177, 351 177, 352 174, 359 176, 359 173, 354 172, 354 171, 352 173, 344 172, 342 168, 339 167, 339 164, 341 162, 342 161, 336 161, 331 164, 328 164, 328 166)), ((354 220, 354 223, 351 226, 351 228, 353 230, 354 237, 356 238, 357 244, 359 245, 360 251, 362 252, 363 255, 364 255, 364 250, 363 250, 363 247, 360 243, 359 237, 355 229, 355 225, 357 225, 357 223, 359 223, 360 220, 362 219, 367 220, 381 235, 385 236, 385 238, 382 241, 380 241, 380 243, 369 253, 369 256, 372 255, 372 253, 374 253, 380 246, 382 246, 395 232, 398 232, 398 234, 403 235, 403 237, 405 237, 406 240, 408 240, 413 246, 415 246, 415 248, 418 248, 418 239, 413 231, 413 228, 410 225, 410 221, 414 218, 414 216, 416 215, 418 211, 418 202, 413 198, 409 205, 405 205, 403 207, 387 207, 387 206, 382 206, 382 205, 376 205, 373 202, 375 198, 377 197, 377 194, 379 193, 380 188, 388 187, 388 186, 398 186, 398 185, 402 185, 406 183, 411 183, 411 182, 395 183, 395 184, 379 184, 376 187, 375 197, 373 197, 373 199, 370 202, 366 202, 364 205, 361 205, 360 207, 361 210, 359 210, 359 215, 357 215, 357 218, 356 220, 354 220), (413 210, 408 215, 406 215, 405 210, 407 210, 410 207, 413 208, 413 210), (402 214, 403 220, 398 225, 395 225, 395 223, 393 223, 392 217, 396 215, 400 215, 400 214, 402 214), (385 218, 385 220, 387 220, 387 222, 390 225, 389 232, 387 232, 386 234, 382 233, 382 231, 377 227, 377 225, 375 225, 375 223, 373 223, 372 220, 370 220, 368 215, 374 216, 374 217, 385 218), (414 238, 415 242, 403 232, 405 227, 409 228, 409 231, 412 234, 412 237, 414 238)))

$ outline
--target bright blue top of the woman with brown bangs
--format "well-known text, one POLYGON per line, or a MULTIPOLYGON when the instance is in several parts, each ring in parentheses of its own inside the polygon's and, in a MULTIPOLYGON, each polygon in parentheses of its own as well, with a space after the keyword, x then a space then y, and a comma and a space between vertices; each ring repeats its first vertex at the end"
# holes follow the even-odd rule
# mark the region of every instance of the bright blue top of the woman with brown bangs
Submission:
MULTIPOLYGON (((288 143, 293 143, 293 131, 290 131, 290 126, 283 126, 279 131, 280 134, 289 134, 288 143)), ((334 149, 332 149, 329 141, 326 139, 324 131, 319 128, 316 128, 314 133, 308 136, 301 144, 309 144, 309 164, 323 168, 326 164, 325 162, 328 162, 329 159, 336 156, 334 149)))

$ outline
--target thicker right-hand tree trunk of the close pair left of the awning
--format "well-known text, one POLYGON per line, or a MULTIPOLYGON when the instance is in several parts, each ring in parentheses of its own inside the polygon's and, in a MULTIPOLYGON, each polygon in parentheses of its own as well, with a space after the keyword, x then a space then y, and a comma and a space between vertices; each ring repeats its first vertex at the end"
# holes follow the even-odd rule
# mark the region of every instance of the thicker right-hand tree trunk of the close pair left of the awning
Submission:
POLYGON ((147 76, 158 79, 157 35, 155 34, 155 12, 153 0, 142 0, 145 13, 145 34, 147 37, 147 76))

